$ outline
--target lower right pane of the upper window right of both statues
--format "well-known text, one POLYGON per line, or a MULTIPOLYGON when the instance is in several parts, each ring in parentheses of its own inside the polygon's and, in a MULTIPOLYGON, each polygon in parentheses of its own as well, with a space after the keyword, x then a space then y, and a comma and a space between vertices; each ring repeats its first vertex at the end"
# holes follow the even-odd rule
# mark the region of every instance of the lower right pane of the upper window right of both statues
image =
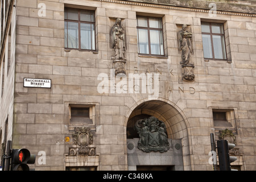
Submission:
POLYGON ((220 35, 213 35, 213 49, 214 49, 214 58, 215 59, 226 59, 225 49, 224 49, 224 40, 221 38, 223 36, 220 35))

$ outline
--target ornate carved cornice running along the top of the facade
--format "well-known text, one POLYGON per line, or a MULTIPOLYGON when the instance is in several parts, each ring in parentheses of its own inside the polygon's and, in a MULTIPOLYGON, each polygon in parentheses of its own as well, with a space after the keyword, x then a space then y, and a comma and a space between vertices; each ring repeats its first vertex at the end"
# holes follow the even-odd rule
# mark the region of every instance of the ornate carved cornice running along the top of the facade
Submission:
POLYGON ((237 16, 252 16, 256 17, 256 5, 243 5, 227 2, 214 2, 202 0, 95 0, 101 2, 120 3, 125 5, 158 7, 162 9, 185 10, 209 13, 213 10, 210 3, 216 5, 216 14, 237 15, 237 16))

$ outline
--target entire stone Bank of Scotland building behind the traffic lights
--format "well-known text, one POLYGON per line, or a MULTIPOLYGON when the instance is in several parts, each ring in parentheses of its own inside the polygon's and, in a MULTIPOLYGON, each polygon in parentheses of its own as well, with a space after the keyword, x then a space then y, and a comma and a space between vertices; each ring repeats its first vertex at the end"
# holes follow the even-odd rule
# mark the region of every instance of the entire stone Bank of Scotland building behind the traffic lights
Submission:
POLYGON ((255 170, 255 56, 254 1, 1 1, 1 152, 12 140, 35 170, 212 170, 214 133, 255 170))

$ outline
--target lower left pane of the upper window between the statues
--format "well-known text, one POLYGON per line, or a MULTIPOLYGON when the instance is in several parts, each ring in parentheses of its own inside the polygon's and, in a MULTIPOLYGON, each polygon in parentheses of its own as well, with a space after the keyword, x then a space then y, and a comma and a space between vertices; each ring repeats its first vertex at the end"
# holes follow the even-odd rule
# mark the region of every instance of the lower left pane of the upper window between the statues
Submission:
POLYGON ((148 54, 148 35, 147 30, 138 29, 138 46, 139 53, 148 54))

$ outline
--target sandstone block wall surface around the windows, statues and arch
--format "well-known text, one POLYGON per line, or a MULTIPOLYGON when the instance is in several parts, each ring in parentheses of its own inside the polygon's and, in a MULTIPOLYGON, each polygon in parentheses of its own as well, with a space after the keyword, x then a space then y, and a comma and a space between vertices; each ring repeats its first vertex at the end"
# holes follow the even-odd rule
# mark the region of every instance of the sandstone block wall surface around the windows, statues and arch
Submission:
MULTIPOLYGON (((150 97, 148 93, 97 92, 98 75, 106 73, 110 77, 110 69, 113 69, 109 33, 115 18, 122 18, 126 32, 127 75, 159 73, 159 96, 155 100, 166 101, 171 107, 163 108, 172 113, 170 108, 173 107, 174 113, 180 113, 171 117, 173 133, 170 137, 180 139, 183 136, 186 143, 183 154, 189 156, 183 158, 184 169, 212 169, 208 163, 209 135, 218 132, 214 129, 213 109, 234 110, 237 147, 241 154, 236 164, 243 170, 256 169, 255 16, 218 13, 212 17, 208 11, 195 9, 90 0, 20 0, 15 9, 15 73, 14 65, 13 73, 10 72, 15 78, 14 115, 11 119, 10 114, 9 119, 13 120, 14 146, 27 147, 34 154, 46 152, 46 164, 36 161, 36 170, 65 169, 65 155, 73 144, 72 140, 65 142, 65 137, 72 139, 74 127, 82 126, 69 122, 72 104, 95 107, 94 122, 88 127, 94 131, 98 169, 128 169, 127 121, 136 106, 150 101, 150 97), (39 16, 39 3, 46 5, 46 16, 39 16), (64 7, 95 10, 96 51, 64 48, 64 7), (162 17, 165 57, 138 55, 136 15, 162 17), (202 21, 224 23, 228 61, 204 59, 202 21), (177 32, 182 24, 187 24, 193 34, 193 82, 181 80, 177 32), (24 77, 51 79, 51 88, 23 87, 24 77), (180 121, 186 124, 174 124, 180 121)), ((152 114, 160 117, 164 111, 160 113, 159 109, 152 114)))

